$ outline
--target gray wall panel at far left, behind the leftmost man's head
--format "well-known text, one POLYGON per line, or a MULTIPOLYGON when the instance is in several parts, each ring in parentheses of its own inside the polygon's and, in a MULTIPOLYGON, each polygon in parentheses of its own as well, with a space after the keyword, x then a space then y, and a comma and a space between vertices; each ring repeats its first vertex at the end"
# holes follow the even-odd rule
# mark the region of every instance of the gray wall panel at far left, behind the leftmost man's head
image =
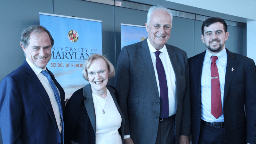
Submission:
POLYGON ((1 1, 0 81, 24 62, 20 34, 30 25, 39 25, 39 12, 52 13, 52 0, 1 1))

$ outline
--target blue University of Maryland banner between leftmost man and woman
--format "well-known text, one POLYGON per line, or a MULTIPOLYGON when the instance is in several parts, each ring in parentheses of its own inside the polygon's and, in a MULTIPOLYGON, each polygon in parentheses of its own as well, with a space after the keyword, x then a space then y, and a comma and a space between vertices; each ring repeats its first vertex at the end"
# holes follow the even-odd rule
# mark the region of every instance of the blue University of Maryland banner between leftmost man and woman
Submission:
POLYGON ((47 68, 65 91, 65 99, 89 84, 82 76, 84 62, 102 55, 101 21, 39 13, 40 25, 52 35, 52 58, 47 68))

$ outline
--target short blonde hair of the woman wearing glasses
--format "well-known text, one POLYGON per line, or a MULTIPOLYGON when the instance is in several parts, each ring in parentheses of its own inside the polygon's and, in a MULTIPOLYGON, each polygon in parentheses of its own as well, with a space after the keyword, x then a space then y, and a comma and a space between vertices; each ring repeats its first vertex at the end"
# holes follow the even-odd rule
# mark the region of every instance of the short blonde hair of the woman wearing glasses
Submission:
POLYGON ((95 53, 95 54, 92 54, 91 56, 89 56, 89 58, 84 63, 82 75, 85 80, 89 81, 87 69, 90 68, 92 61, 100 59, 100 58, 102 58, 106 62, 106 65, 108 68, 108 78, 112 78, 113 76, 115 76, 116 72, 115 72, 115 68, 114 68, 113 64, 103 55, 95 53))

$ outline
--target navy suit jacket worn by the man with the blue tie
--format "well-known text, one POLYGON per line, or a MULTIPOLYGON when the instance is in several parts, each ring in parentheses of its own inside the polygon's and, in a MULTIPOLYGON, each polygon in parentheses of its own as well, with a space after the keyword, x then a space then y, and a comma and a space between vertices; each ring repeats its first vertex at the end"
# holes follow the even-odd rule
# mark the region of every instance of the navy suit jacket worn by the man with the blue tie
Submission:
MULTIPOLYGON (((60 91, 64 111, 65 92, 47 71, 60 91)), ((0 114, 4 144, 58 144, 63 140, 49 96, 26 60, 1 81, 0 114)))

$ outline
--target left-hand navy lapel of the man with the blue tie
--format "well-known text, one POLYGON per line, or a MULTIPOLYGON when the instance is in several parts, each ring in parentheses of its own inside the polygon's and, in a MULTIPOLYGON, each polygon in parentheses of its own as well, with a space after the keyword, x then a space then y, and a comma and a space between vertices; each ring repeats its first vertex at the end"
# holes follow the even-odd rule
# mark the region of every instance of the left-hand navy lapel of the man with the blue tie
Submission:
POLYGON ((28 76, 28 80, 30 81, 31 85, 34 87, 38 96, 43 101, 44 106, 47 109, 50 117, 52 118, 53 123, 55 124, 56 127, 58 127, 57 121, 56 121, 56 118, 55 118, 55 115, 54 115, 54 112, 52 109, 52 104, 51 104, 50 98, 49 98, 47 92, 45 91, 44 86, 42 85, 42 83, 36 76, 35 72, 32 70, 32 68, 28 65, 28 62, 26 60, 22 64, 22 67, 30 75, 30 76, 28 76))

